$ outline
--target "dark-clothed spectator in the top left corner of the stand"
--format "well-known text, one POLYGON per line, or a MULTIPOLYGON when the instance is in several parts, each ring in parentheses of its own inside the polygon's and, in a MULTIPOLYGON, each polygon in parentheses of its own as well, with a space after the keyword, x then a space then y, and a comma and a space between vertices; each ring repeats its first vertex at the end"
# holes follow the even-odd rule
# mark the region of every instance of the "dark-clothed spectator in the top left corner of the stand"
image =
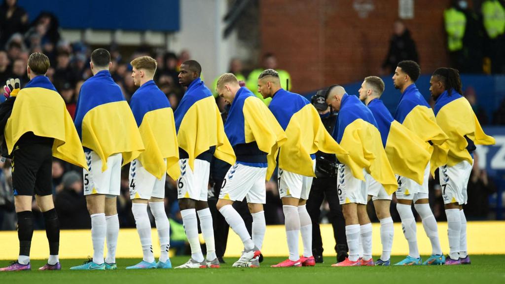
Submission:
POLYGON ((27 25, 28 14, 17 0, 5 0, 0 6, 0 46, 3 48, 11 35, 25 32, 27 25))

